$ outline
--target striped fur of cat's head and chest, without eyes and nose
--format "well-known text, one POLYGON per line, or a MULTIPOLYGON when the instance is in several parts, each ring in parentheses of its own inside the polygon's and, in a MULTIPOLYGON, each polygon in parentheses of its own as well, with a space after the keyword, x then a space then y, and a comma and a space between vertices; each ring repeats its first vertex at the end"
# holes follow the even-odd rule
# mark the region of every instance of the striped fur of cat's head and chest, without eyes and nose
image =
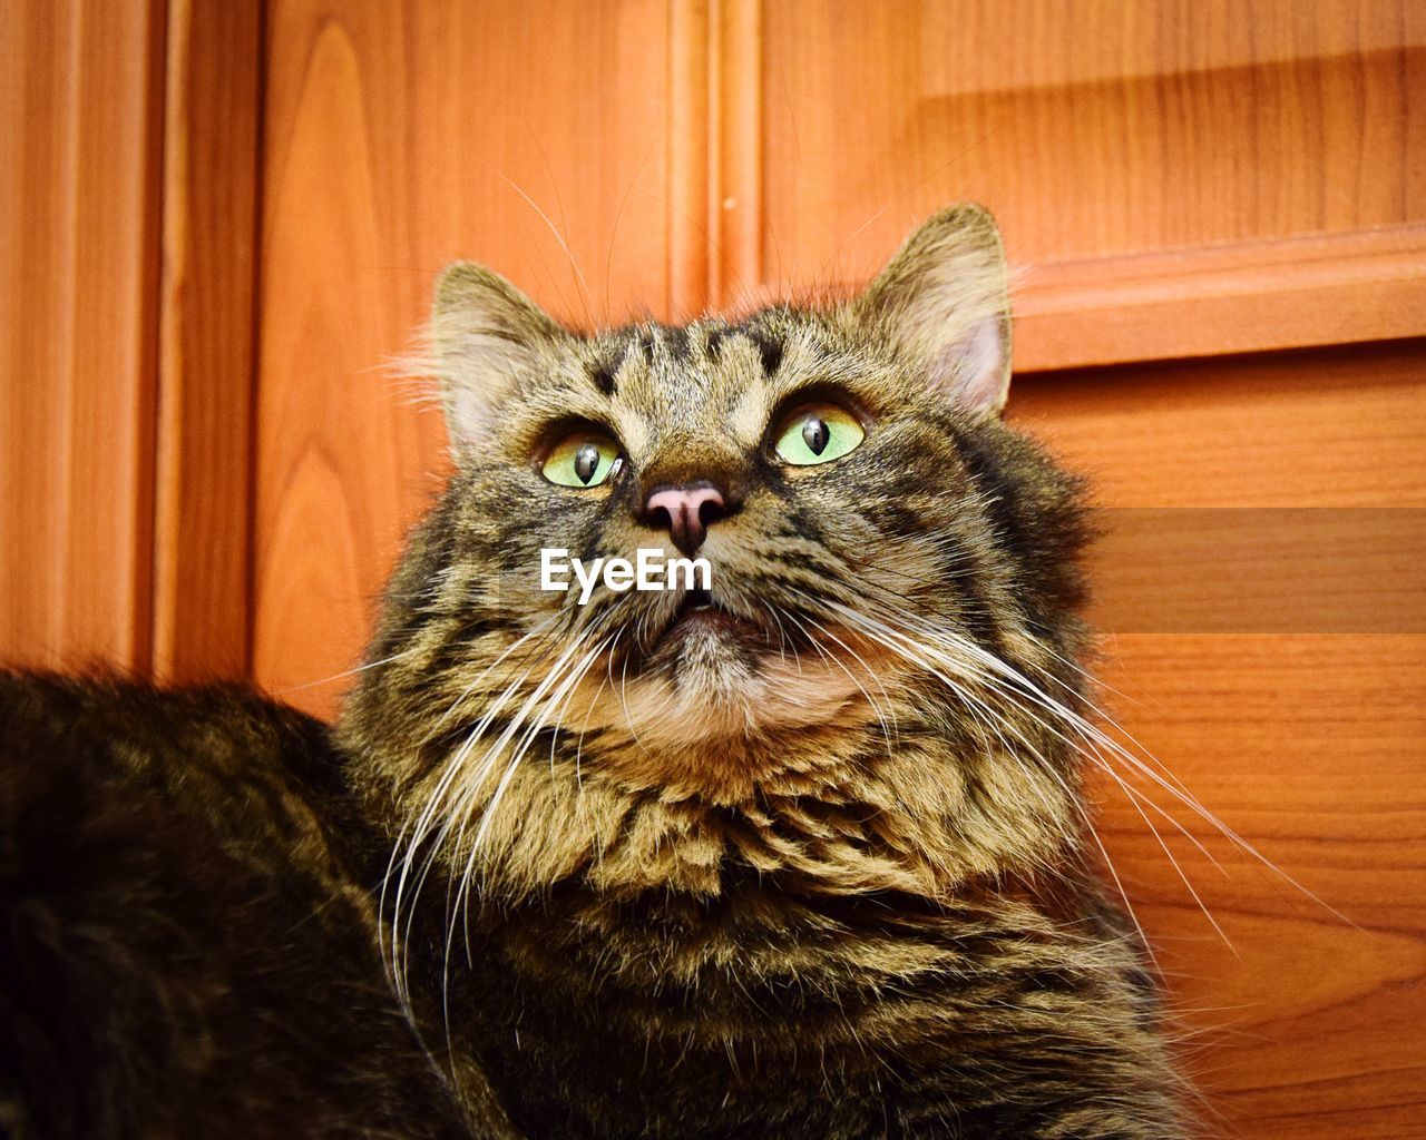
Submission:
POLYGON ((1185 1134, 1089 855, 1081 489, 995 415, 1005 312, 977 208, 860 298, 740 321, 585 336, 442 279, 458 472, 339 738, 398 990, 529 1134, 1185 1134), (810 395, 867 436, 789 467, 810 395), (539 475, 576 422, 623 447, 602 487, 539 475), (538 589, 542 547, 663 543, 637 507, 692 479, 737 503, 700 553, 742 636, 538 589))

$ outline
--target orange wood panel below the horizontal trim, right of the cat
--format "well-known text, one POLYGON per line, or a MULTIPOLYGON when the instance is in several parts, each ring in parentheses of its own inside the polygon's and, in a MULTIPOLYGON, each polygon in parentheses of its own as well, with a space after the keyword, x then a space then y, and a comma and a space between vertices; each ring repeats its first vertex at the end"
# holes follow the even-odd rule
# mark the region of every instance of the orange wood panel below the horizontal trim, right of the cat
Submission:
MULTIPOLYGON (((1092 476, 1109 512, 1416 509, 1405 514, 1420 527, 1426 506, 1419 342, 1044 373, 1017 380, 1011 412, 1092 476)), ((1137 569, 1099 566, 1101 594, 1137 569)), ((1420 613, 1419 563, 1396 573, 1420 613)), ((1368 589, 1346 581, 1342 611, 1356 613, 1350 591, 1368 589)), ((1114 608, 1101 597, 1101 617, 1114 608)), ((1318 636, 1165 630, 1104 643, 1111 714, 1322 899, 1138 779, 1192 834, 1139 805, 1228 945, 1139 808, 1101 779, 1101 831, 1158 948, 1212 1127, 1263 1140, 1420 1136, 1426 634, 1370 621, 1318 636)))

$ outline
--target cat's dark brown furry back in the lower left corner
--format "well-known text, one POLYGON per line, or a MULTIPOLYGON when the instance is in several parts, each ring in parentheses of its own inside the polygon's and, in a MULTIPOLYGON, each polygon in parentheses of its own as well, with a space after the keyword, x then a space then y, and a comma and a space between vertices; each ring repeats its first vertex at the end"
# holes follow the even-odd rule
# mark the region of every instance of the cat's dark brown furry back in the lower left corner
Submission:
POLYGON ((0 1133, 456 1136, 325 725, 0 674, 0 1133))

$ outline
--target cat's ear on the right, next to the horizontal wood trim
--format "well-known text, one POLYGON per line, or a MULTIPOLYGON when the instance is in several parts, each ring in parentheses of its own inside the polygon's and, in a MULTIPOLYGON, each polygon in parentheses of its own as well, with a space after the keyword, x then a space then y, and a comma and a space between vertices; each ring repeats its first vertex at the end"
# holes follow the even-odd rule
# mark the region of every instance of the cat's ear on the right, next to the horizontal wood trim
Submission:
POLYGON ((1000 229, 980 205, 955 205, 906 239, 853 304, 890 335, 924 380, 975 412, 1010 395, 1010 272, 1000 229))

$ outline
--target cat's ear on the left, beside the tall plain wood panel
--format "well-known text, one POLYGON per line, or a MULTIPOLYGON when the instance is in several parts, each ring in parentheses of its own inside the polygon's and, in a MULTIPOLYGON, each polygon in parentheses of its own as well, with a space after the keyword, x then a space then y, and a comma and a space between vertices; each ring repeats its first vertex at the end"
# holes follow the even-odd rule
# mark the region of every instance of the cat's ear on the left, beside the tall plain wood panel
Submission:
POLYGON ((445 268, 436 281, 429 339, 456 456, 489 437, 501 393, 536 366, 542 348, 566 335, 492 269, 471 261, 445 268))

